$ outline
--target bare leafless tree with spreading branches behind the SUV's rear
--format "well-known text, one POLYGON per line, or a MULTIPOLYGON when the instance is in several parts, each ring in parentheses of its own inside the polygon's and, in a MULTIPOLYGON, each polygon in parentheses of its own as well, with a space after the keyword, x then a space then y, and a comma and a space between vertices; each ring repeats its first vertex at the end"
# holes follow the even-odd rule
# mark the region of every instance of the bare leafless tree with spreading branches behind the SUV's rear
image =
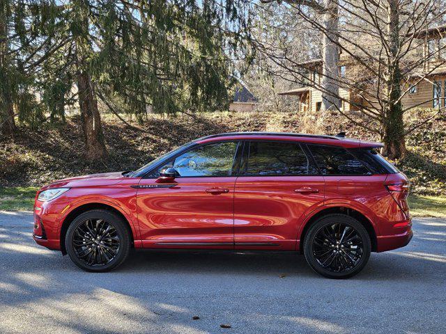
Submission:
MULTIPOLYGON (((309 74, 301 59, 293 58, 281 45, 271 47, 255 39, 256 47, 286 70, 285 79, 293 77, 299 84, 349 104, 351 109, 348 110, 339 104, 332 105, 352 122, 379 134, 385 143, 384 154, 394 159, 406 153, 405 136, 445 108, 444 102, 443 105, 436 103, 443 93, 426 96, 415 104, 403 104, 413 86, 429 81, 435 87, 435 75, 446 65, 445 44, 437 42, 436 47, 429 47, 433 44, 429 41, 441 40, 446 31, 445 27, 435 29, 433 26, 433 22, 441 21, 445 15, 444 10, 438 10, 444 8, 442 1, 345 0, 337 4, 341 22, 337 32, 326 24, 326 12, 311 13, 302 8, 302 3, 290 1, 290 10, 295 10, 304 22, 320 31, 324 39, 337 45, 341 63, 348 64, 346 76, 338 72, 339 60, 336 70, 333 66, 328 71, 323 59, 323 79, 319 82, 309 74), (341 96, 328 83, 348 90, 349 95, 341 96), (413 125, 405 124, 405 113, 429 104, 436 106, 430 116, 413 125), (360 114, 351 112, 352 109, 360 114)), ((437 88, 433 89, 435 92, 437 88)))

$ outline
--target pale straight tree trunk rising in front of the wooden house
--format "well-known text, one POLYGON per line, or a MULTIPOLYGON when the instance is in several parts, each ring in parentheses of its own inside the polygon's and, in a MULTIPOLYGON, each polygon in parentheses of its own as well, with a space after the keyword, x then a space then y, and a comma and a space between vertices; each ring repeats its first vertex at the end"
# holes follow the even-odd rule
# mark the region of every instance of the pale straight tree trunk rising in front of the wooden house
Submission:
POLYGON ((325 29, 322 45, 322 93, 323 109, 337 110, 341 108, 339 99, 339 37, 338 37, 338 0, 324 0, 322 24, 325 29))

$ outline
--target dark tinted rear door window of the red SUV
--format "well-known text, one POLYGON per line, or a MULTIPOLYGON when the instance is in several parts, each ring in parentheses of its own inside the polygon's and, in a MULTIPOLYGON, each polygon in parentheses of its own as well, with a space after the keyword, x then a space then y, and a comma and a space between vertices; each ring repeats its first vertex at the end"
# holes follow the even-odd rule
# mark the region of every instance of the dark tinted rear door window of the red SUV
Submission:
POLYGON ((307 156, 297 143, 249 143, 247 175, 305 175, 316 174, 307 156))

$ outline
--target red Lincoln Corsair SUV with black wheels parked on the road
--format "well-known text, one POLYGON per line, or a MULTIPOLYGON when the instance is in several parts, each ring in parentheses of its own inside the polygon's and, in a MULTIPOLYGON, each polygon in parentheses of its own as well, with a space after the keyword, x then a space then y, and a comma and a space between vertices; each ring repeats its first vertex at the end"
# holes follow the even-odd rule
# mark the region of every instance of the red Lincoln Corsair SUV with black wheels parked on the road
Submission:
POLYGON ((408 180, 380 146, 266 132, 199 138, 138 170, 44 186, 33 237, 87 271, 117 267, 130 248, 290 250, 346 278, 413 235, 408 180))

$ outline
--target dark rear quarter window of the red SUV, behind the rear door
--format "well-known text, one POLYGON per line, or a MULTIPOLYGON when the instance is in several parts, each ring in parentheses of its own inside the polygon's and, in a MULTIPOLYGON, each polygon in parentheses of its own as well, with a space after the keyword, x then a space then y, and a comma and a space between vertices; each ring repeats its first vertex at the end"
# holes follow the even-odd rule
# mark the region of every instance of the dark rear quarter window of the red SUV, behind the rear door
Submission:
POLYGON ((308 145, 323 175, 367 175, 369 170, 344 148, 308 145))

